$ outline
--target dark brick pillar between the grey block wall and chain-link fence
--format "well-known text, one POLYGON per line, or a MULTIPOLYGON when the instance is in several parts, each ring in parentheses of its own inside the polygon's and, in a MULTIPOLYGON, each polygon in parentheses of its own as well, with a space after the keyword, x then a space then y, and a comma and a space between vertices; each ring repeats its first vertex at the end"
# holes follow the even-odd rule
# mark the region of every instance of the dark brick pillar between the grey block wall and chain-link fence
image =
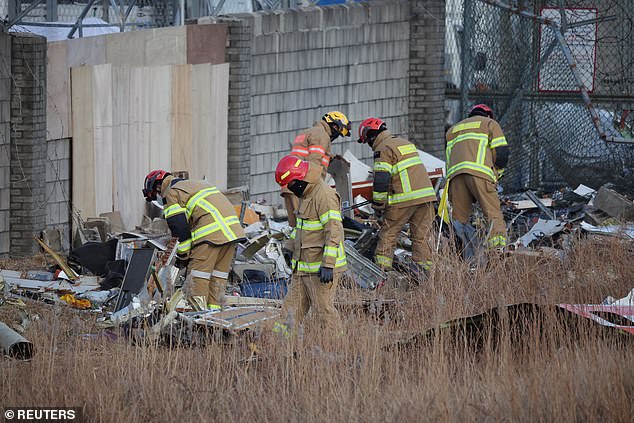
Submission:
POLYGON ((445 0, 411 3, 409 139, 444 158, 445 0))

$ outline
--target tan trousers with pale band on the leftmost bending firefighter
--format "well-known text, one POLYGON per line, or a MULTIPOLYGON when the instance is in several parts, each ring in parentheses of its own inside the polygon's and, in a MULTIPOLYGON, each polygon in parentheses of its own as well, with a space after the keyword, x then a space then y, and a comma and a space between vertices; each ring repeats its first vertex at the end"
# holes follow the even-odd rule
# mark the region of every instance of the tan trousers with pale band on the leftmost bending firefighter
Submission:
POLYGON ((192 249, 189 264, 193 280, 191 295, 206 297, 207 305, 222 305, 235 252, 236 244, 233 242, 196 245, 192 249))

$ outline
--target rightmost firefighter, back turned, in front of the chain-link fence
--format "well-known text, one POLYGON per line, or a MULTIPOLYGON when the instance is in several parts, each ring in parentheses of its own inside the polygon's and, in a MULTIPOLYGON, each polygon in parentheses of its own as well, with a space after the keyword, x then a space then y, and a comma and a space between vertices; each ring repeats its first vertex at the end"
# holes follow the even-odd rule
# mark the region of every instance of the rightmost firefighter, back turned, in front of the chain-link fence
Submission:
POLYGON ((449 128, 446 138, 453 218, 466 224, 477 201, 491 225, 487 247, 505 247, 506 225, 497 181, 508 162, 509 148, 502 128, 493 120, 493 111, 486 104, 476 104, 467 119, 449 128))

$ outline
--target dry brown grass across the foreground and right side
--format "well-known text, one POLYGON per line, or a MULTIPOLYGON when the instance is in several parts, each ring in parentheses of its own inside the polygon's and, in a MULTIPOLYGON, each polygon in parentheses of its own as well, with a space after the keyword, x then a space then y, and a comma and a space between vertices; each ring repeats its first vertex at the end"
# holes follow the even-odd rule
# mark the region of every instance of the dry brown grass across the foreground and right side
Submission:
POLYGON ((98 422, 632 421, 632 342, 593 327, 572 336, 545 319, 543 336, 502 331, 482 348, 450 336, 388 348, 497 305, 624 296, 631 251, 583 242, 565 263, 510 258, 477 272, 455 257, 436 262, 428 282, 398 294, 389 319, 347 311, 336 339, 308 329, 289 343, 266 332, 257 361, 245 360, 247 339, 193 349, 82 339, 98 333, 90 315, 42 307, 25 334, 33 361, 0 361, 1 403, 79 406, 98 422))

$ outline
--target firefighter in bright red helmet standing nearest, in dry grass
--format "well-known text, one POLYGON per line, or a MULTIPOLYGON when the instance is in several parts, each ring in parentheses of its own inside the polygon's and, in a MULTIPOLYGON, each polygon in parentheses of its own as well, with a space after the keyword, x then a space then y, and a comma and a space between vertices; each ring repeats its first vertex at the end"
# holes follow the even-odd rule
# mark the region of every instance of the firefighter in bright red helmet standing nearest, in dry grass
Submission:
POLYGON ((291 234, 293 276, 282 318, 273 330, 285 335, 308 311, 324 329, 339 333, 341 321, 334 307, 339 277, 346 269, 341 221, 341 199, 321 178, 321 168, 295 156, 280 160, 275 180, 299 198, 297 225, 291 234))

